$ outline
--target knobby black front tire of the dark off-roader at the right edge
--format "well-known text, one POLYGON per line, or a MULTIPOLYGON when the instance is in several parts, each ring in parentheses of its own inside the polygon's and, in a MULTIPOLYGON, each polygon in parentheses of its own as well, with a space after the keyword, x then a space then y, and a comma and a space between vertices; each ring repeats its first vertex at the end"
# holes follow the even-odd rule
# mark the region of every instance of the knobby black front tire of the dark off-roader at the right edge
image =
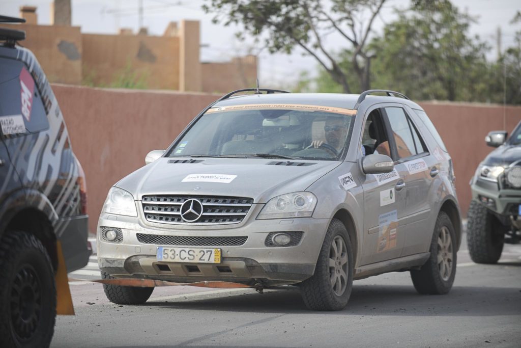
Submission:
POLYGON ((467 247, 476 263, 496 263, 501 257, 505 234, 497 229, 495 217, 487 207, 470 201, 467 214, 467 247))

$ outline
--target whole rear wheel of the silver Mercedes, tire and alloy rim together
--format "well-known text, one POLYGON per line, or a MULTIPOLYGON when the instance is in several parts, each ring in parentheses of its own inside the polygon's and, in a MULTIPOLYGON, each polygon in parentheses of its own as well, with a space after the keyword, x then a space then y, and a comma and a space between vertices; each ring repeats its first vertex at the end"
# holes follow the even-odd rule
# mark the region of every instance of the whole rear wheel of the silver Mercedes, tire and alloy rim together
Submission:
POLYGON ((441 211, 436 219, 430 244, 430 257, 420 270, 412 270, 411 278, 420 294, 448 293, 456 276, 456 238, 449 216, 441 211))

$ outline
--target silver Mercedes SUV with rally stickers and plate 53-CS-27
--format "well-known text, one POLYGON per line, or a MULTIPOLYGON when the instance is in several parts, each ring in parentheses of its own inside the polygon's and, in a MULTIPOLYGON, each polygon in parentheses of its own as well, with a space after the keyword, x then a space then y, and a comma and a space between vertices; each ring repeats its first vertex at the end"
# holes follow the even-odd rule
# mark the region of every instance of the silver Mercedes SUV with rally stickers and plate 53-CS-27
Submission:
MULTIPOLYGON (((104 279, 294 284, 316 310, 344 308, 353 279, 384 272, 410 271, 421 294, 452 287, 453 164, 398 92, 234 91, 145 162, 105 201, 104 279)), ((154 289, 104 288, 118 304, 154 289)))

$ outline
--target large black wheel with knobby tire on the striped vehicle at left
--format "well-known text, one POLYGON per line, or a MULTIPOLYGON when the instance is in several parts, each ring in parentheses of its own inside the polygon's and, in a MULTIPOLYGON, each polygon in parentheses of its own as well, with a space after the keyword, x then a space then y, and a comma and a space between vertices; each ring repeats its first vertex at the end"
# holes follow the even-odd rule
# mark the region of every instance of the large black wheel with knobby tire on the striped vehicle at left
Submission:
POLYGON ((42 243, 26 232, 0 241, 0 346, 48 347, 56 321, 56 284, 42 243))

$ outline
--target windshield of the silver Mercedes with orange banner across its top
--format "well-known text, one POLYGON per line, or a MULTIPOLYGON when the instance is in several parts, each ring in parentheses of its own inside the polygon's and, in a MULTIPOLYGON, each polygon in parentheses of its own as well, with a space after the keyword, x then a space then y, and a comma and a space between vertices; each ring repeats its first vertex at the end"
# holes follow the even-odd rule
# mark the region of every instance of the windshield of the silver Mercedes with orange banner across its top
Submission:
POLYGON ((339 160, 355 113, 318 105, 213 107, 168 156, 339 160))

